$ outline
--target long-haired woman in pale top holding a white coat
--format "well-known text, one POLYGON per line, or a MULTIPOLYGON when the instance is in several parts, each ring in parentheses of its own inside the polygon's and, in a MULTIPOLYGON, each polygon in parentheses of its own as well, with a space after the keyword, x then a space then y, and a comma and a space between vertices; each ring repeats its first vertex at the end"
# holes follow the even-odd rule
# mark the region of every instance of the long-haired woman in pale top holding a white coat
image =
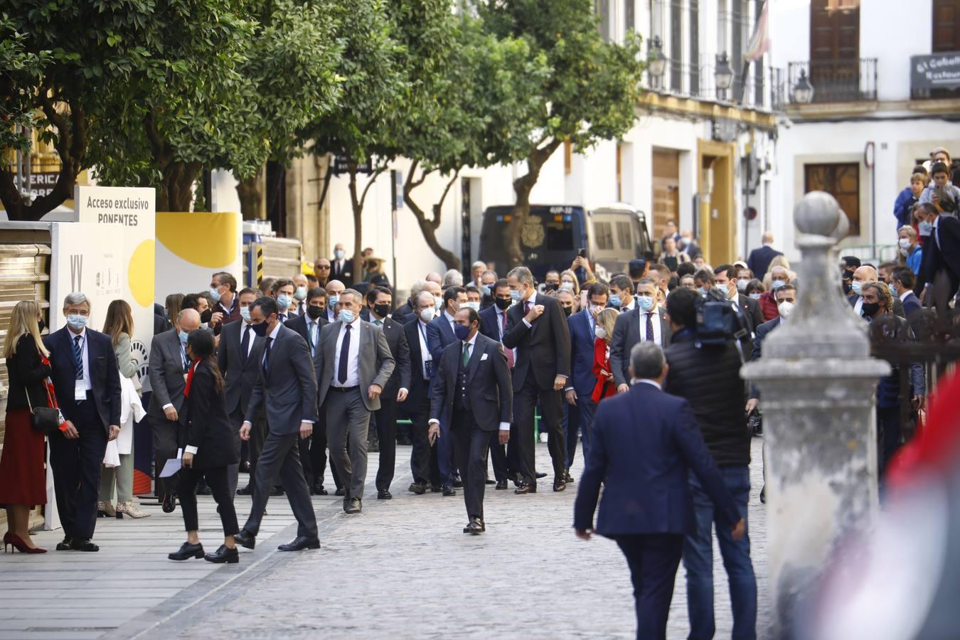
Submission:
POLYGON ((107 444, 107 459, 100 473, 100 498, 97 512, 101 516, 122 518, 124 513, 132 518, 143 518, 150 513, 140 510, 133 504, 133 422, 144 416, 140 396, 136 392, 133 378, 136 376, 136 363, 133 361, 130 337, 133 335, 133 318, 130 305, 125 300, 113 300, 107 308, 107 320, 104 333, 110 337, 117 367, 120 369, 120 436, 107 444), (111 497, 116 485, 117 504, 113 506, 111 497))

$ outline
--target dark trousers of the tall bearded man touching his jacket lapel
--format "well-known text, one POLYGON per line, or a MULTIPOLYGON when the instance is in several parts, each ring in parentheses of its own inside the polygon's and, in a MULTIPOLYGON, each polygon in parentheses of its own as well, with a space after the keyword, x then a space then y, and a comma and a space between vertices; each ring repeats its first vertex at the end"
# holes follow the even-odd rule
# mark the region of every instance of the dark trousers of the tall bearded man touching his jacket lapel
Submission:
POLYGON ((560 391, 540 389, 534 380, 533 371, 530 371, 520 391, 514 394, 514 423, 510 427, 510 441, 513 442, 516 438, 517 444, 516 463, 519 466, 516 470, 523 476, 523 482, 530 486, 537 486, 534 409, 538 400, 543 413, 540 425, 547 433, 547 447, 553 461, 554 476, 563 478, 566 470, 566 442, 561 425, 564 409, 560 391))

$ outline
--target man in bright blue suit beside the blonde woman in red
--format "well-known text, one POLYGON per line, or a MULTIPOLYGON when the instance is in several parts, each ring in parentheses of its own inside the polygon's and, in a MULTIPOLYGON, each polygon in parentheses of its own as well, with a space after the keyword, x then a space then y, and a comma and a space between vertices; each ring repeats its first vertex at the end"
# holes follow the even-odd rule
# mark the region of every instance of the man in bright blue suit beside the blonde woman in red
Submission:
MULTIPOLYGON (((596 404, 593 402, 593 388, 597 383, 597 378, 593 375, 596 316, 607 307, 609 297, 610 289, 607 285, 594 282, 587 292, 587 308, 566 320, 566 326, 570 332, 570 377, 566 379, 564 394, 567 404, 570 405, 568 411, 576 411, 580 415, 579 424, 584 442, 585 460, 590 447, 590 423, 593 421, 593 412, 596 411, 596 404)), ((636 309, 635 307, 634 312, 623 314, 623 316, 636 315, 636 309)), ((573 461, 576 444, 574 439, 573 450, 567 450, 567 468, 569 468, 569 462, 573 461)), ((569 472, 565 480, 570 482, 569 472)))

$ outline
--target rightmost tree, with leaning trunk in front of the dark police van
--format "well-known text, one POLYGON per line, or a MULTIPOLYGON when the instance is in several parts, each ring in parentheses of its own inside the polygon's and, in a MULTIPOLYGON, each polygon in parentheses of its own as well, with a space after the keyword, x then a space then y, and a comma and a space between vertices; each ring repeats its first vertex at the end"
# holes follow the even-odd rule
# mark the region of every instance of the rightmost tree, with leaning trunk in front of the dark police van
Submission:
POLYGON ((630 34, 623 44, 605 42, 588 0, 476 0, 475 7, 490 33, 525 39, 551 70, 529 123, 537 134, 528 140, 527 173, 514 181, 513 220, 503 232, 511 264, 519 265, 520 230, 543 164, 564 140, 582 153, 633 127, 644 69, 640 39, 630 34))

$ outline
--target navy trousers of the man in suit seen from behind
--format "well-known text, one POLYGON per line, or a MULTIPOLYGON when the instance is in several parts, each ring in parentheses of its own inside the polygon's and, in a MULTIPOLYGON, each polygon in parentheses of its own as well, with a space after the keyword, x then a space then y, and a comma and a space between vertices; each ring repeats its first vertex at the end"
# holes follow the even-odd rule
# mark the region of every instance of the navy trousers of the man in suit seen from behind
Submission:
MULTIPOLYGON (((627 558, 636 601, 636 639, 666 640, 673 581, 684 549, 680 533, 617 535, 627 558)), ((692 637, 692 636, 691 636, 692 637)))

